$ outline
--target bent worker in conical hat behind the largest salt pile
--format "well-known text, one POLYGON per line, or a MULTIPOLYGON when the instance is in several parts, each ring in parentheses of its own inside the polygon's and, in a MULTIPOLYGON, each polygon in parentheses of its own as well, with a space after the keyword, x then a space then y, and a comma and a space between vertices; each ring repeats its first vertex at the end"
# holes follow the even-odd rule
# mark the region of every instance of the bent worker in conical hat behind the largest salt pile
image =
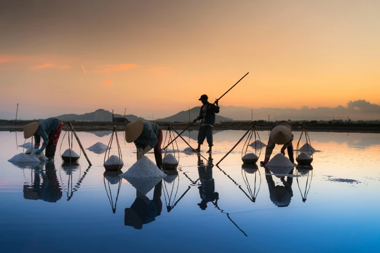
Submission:
POLYGON ((125 126, 125 140, 133 142, 137 148, 137 160, 141 159, 152 148, 157 167, 162 167, 162 130, 160 126, 153 122, 132 121, 125 126))

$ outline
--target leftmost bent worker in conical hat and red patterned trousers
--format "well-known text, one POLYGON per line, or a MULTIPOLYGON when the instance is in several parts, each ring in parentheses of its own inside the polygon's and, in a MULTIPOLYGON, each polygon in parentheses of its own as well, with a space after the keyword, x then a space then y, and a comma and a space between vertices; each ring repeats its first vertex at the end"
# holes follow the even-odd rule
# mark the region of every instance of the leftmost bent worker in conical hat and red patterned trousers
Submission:
POLYGON ((24 126, 24 138, 29 139, 34 136, 34 150, 36 155, 40 155, 46 148, 46 157, 54 160, 57 143, 61 135, 63 123, 57 118, 49 118, 40 122, 32 122, 24 126), (40 148, 41 138, 43 144, 40 148))

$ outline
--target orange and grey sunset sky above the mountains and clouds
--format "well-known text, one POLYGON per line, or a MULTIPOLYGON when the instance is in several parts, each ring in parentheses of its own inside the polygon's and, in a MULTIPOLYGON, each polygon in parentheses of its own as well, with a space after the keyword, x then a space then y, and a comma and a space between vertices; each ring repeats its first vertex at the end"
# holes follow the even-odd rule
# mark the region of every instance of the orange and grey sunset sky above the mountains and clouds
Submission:
POLYGON ((379 0, 3 0, 0 111, 380 104, 379 0))

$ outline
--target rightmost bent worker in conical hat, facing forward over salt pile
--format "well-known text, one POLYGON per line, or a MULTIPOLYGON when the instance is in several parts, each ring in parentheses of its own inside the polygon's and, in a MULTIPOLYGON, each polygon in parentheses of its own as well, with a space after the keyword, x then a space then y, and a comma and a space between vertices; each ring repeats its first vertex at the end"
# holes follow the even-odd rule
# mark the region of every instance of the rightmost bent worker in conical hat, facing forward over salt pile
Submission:
POLYGON ((265 150, 265 160, 261 162, 265 165, 270 156, 272 155, 273 149, 276 144, 283 145, 281 148, 281 154, 285 156, 285 149, 288 150, 288 156, 291 162, 294 163, 293 158, 293 134, 292 126, 287 121, 275 122, 273 124, 272 130, 270 131, 268 145, 265 150))

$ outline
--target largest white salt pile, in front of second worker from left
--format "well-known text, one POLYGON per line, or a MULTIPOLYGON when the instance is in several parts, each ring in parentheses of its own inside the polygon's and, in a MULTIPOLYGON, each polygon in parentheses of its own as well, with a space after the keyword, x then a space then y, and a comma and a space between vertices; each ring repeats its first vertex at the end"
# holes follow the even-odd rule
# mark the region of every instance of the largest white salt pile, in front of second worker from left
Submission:
POLYGON ((163 178, 166 174, 159 170, 149 158, 143 156, 121 176, 124 178, 163 178))

